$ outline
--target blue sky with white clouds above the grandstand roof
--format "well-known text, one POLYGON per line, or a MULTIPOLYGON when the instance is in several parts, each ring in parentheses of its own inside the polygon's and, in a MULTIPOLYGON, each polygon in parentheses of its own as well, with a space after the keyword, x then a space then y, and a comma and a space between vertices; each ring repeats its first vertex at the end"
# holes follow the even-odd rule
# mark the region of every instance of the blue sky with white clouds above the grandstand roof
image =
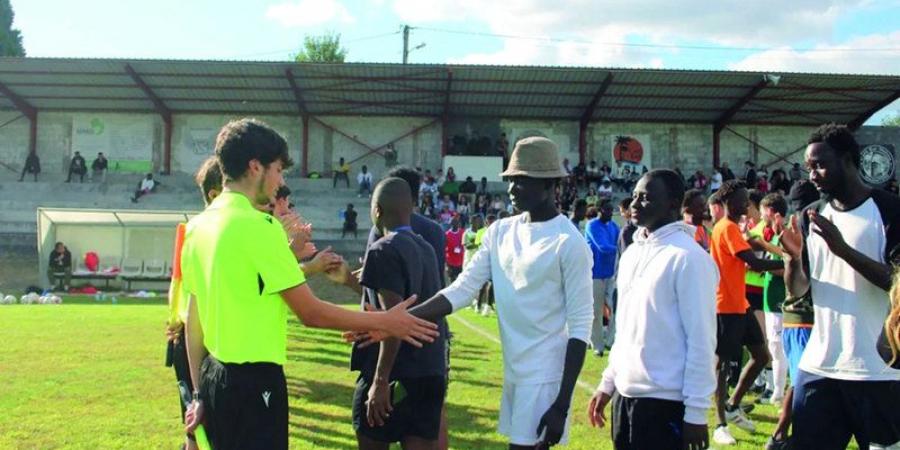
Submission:
MULTIPOLYGON (((900 0, 12 0, 29 56, 286 60, 340 33, 349 61, 900 74, 900 0), (439 31, 444 30, 444 31, 439 31), (692 48, 692 47, 703 47, 692 48)), ((900 111, 900 104, 879 117, 900 111)), ((877 119, 877 118, 876 118, 877 119)))

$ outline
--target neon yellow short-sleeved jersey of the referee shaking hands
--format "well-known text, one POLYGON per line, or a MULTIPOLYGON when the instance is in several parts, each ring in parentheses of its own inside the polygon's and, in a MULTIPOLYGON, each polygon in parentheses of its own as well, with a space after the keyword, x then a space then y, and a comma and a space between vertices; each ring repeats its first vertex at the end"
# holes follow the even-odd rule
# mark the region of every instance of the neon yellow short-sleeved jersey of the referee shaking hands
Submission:
POLYGON ((181 261, 210 354, 227 363, 285 363, 287 305, 279 293, 306 278, 277 219, 223 192, 188 222, 181 261))

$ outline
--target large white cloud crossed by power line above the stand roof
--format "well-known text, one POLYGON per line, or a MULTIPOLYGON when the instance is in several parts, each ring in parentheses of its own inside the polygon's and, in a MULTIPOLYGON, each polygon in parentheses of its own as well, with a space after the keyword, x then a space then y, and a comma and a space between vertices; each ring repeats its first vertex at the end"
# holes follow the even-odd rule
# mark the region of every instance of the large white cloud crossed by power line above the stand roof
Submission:
POLYGON ((394 0, 393 7, 412 25, 475 22, 493 34, 564 40, 501 38, 501 50, 453 63, 659 67, 659 49, 616 44, 635 39, 742 47, 829 42, 842 14, 879 6, 871 0, 394 0))

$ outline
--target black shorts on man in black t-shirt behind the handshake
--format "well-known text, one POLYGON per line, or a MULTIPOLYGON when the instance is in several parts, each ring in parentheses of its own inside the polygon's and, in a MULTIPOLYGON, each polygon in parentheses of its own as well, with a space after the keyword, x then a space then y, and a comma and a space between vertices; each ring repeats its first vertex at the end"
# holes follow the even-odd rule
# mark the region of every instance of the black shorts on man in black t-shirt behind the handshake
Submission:
MULTIPOLYGON (((441 408, 447 395, 447 378, 403 378, 396 383, 403 385, 406 395, 394 403, 391 416, 383 426, 372 428, 366 421, 366 400, 369 398, 371 380, 363 376, 356 380, 353 429, 378 442, 400 442, 407 436, 437 440, 441 430, 441 408)), ((392 396, 394 392, 391 392, 392 396)))

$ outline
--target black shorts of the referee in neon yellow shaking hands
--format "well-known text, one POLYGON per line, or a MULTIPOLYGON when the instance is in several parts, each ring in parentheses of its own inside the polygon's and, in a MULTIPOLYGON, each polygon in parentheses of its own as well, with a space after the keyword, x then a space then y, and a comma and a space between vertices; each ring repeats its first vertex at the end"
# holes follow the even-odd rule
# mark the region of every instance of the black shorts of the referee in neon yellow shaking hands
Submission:
POLYGON ((212 355, 200 368, 206 434, 219 449, 287 449, 284 370, 274 363, 228 364, 212 355))

